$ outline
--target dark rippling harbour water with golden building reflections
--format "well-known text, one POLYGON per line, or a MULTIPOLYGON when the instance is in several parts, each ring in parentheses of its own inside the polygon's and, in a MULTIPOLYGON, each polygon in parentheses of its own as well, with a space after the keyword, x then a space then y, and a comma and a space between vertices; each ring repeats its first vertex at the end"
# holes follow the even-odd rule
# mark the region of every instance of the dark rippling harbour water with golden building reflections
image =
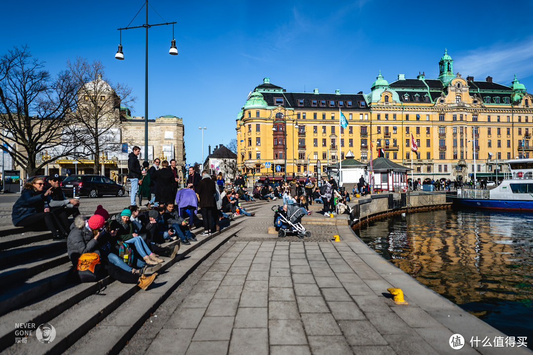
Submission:
POLYGON ((414 213, 356 233, 464 310, 508 336, 533 339, 533 214, 414 213))

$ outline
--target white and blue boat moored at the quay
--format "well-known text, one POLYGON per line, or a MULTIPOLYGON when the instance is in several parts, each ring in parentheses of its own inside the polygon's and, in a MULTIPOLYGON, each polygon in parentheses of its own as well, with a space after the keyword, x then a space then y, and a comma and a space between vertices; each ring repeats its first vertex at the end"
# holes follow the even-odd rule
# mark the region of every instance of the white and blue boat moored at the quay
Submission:
POLYGON ((507 160, 508 172, 491 190, 457 190, 457 203, 485 209, 533 212, 533 159, 507 160))

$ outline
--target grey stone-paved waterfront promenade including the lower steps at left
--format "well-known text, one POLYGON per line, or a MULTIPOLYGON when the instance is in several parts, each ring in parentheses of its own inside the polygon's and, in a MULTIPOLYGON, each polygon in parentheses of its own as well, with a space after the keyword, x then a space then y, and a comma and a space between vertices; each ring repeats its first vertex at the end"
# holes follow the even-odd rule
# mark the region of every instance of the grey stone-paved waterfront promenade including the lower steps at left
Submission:
POLYGON ((148 291, 109 280, 96 293, 90 290, 98 285, 62 285, 5 314, 2 341, 13 322, 34 319, 53 325, 57 338, 41 344, 33 336, 4 353, 531 353, 495 347, 506 335, 384 260, 347 221, 329 224, 338 219, 313 214, 303 218, 313 223, 309 238, 268 234, 274 204, 245 204, 255 217, 240 216, 183 246, 176 260, 164 258, 148 291), (394 304, 390 287, 401 288, 409 304, 394 304), (456 333, 464 337, 460 350, 449 345, 456 333), (479 340, 474 349, 471 339, 479 340))

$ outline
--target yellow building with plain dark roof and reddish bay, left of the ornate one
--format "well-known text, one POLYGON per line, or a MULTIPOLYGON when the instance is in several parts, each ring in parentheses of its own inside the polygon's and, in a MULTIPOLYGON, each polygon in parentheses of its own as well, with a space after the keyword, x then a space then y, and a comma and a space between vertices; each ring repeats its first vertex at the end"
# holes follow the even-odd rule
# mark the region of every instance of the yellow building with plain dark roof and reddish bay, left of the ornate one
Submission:
POLYGON ((362 93, 289 93, 264 78, 237 117, 238 164, 248 177, 272 178, 272 166, 279 166, 275 176, 292 179, 314 175, 319 161, 325 172, 349 150, 366 158, 368 140, 360 132, 369 127, 369 117, 362 93), (339 126, 339 110, 348 120, 345 129, 339 126))

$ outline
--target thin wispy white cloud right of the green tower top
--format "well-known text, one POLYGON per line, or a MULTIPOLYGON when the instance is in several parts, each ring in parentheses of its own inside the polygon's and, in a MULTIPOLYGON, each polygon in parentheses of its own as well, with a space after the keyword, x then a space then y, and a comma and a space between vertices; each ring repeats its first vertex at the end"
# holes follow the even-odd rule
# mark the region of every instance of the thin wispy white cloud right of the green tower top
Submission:
POLYGON ((520 79, 533 74, 533 37, 520 42, 497 43, 469 51, 454 60, 454 71, 463 77, 472 75, 484 80, 487 75, 495 82, 508 85, 514 74, 520 79))

